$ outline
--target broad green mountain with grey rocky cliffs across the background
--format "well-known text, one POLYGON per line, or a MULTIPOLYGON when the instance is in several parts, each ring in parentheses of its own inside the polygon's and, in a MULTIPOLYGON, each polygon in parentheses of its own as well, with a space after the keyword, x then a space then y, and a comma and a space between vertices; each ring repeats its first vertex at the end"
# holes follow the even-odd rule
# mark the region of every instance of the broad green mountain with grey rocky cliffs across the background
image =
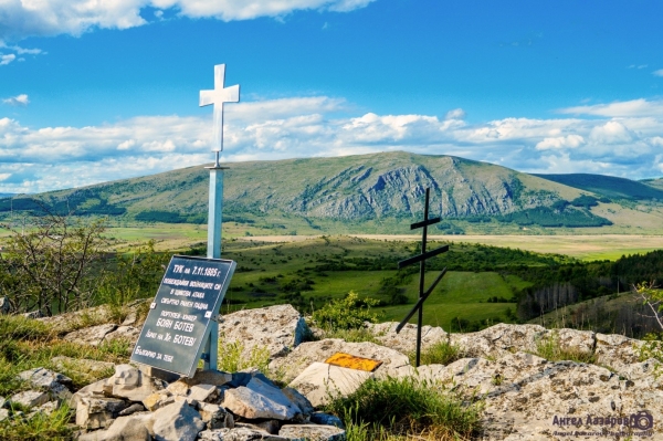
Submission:
MULTIPOLYGON (((430 216, 441 216, 444 222, 439 228, 452 232, 482 222, 517 228, 612 223, 604 210, 601 216, 593 212, 603 207, 598 198, 606 193, 606 185, 601 191, 578 188, 556 181, 557 176, 537 177, 452 156, 394 151, 227 166, 224 221, 246 224, 283 227, 304 221, 308 228, 325 231, 367 232, 393 232, 399 225, 400 232, 402 225, 421 218, 427 187, 431 189, 430 216)), ((662 190, 625 181, 648 189, 646 195, 663 196, 662 190)), ((78 214, 203 223, 208 186, 208 170, 199 166, 40 198, 51 209, 78 214)), ((0 200, 0 214, 9 209, 9 200, 0 200)), ((36 209, 29 197, 13 200, 14 211, 36 209)))

